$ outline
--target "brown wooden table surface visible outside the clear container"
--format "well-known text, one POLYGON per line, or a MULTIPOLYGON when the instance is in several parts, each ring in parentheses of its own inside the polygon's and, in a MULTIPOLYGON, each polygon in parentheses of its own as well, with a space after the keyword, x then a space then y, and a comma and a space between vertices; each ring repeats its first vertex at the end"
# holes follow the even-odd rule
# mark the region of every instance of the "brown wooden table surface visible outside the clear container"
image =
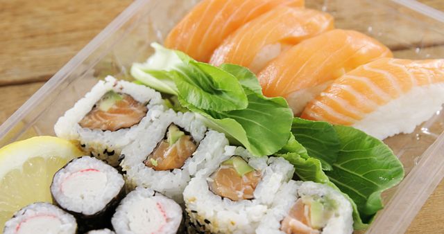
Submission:
MULTIPOLYGON (((444 10, 442 0, 421 2, 444 10)), ((130 3, 0 0, 0 123, 130 3)), ((441 181, 407 233, 444 233, 443 213, 441 181)))

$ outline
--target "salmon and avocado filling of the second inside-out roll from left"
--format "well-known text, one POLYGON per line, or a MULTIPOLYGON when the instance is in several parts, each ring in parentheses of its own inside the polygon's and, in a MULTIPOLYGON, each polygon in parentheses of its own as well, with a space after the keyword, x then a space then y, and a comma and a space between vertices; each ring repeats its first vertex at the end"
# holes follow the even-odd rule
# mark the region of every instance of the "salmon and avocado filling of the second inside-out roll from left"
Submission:
POLYGON ((168 127, 166 139, 160 141, 152 154, 144 161, 154 170, 182 168, 185 161, 196 151, 197 145, 191 136, 180 131, 176 125, 168 127))

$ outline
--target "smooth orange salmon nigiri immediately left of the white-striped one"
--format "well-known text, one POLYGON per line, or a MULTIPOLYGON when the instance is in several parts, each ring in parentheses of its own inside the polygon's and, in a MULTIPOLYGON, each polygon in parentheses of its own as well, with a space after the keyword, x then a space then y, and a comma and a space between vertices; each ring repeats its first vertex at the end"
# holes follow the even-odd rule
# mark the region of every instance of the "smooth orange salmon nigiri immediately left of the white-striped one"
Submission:
POLYGON ((285 51, 259 73, 258 79, 266 96, 283 96, 298 115, 334 79, 361 64, 392 56, 376 39, 353 30, 334 29, 285 51))

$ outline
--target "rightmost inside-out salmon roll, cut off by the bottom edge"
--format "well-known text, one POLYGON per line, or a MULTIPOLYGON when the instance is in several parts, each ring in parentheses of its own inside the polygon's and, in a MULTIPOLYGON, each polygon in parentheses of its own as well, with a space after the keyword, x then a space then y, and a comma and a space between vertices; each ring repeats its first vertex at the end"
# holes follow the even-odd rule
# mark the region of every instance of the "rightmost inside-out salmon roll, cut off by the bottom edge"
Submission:
POLYGON ((256 230, 258 234, 352 232, 350 201, 334 188, 311 181, 282 186, 256 230))

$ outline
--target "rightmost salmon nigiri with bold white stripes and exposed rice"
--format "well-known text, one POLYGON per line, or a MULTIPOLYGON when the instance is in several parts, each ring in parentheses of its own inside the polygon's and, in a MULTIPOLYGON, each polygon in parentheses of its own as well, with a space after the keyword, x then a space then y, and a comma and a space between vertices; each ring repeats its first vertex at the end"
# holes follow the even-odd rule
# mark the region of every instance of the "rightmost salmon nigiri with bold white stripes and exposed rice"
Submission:
POLYGON ((302 118, 351 125, 383 139, 413 132, 444 103, 444 60, 370 62, 335 80, 302 118))

